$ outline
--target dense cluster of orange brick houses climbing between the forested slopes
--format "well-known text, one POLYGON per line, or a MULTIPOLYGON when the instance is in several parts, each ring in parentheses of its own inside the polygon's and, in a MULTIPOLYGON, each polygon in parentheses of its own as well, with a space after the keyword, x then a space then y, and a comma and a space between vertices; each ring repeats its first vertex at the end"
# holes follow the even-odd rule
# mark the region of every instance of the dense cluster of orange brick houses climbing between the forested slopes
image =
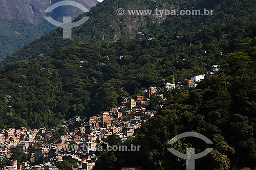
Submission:
MULTIPOLYGON (((89 119, 77 116, 48 131, 45 127, 32 130, 27 128, 2 129, 0 130, 0 159, 10 159, 10 162, 0 168, 35 167, 37 169, 57 170, 57 165, 61 161, 73 160, 77 163, 77 167, 73 169, 93 169, 97 160, 96 148, 100 144, 108 145, 108 137, 113 134, 119 137, 121 142, 136 136, 141 130, 141 125, 154 116, 157 109, 162 107, 160 105, 157 106, 156 110, 146 109, 147 102, 152 96, 160 96, 164 100, 163 94, 158 90, 159 88, 172 90, 177 86, 181 89, 196 87, 206 76, 211 77, 217 71, 219 71, 219 65, 212 65, 211 71, 208 71, 207 75, 199 75, 185 80, 183 85, 176 85, 174 80, 172 83, 162 80, 161 87, 150 87, 143 90, 144 95, 136 96, 136 99, 123 98, 120 105, 104 111, 100 115, 91 116, 89 119), (49 141, 54 133, 61 128, 68 129, 69 127, 73 127, 73 130, 62 135, 53 143, 49 143, 46 147, 45 141, 49 141), (74 145, 74 148, 65 150, 70 145, 74 145), (34 146, 34 153, 28 151, 31 146, 34 146), (86 150, 83 149, 84 146, 86 146, 86 150), (15 152, 29 154, 30 160, 18 164, 17 160, 11 160, 11 155, 15 152)), ((122 169, 140 168, 123 167, 122 169)))

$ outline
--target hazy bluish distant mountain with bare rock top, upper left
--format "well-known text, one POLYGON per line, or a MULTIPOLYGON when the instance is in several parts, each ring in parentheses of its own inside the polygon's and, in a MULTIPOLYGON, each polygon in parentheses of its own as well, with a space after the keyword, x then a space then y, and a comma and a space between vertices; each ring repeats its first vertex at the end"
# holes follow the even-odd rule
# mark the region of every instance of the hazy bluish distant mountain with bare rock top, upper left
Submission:
MULTIPOLYGON (((74 19, 82 13, 75 7, 59 7, 51 14, 44 13, 49 6, 58 1, 0 1, 0 60, 27 45, 35 38, 53 30, 55 26, 42 18, 45 15, 50 15, 61 21, 62 16, 72 16, 74 19)), ((79 0, 76 2, 88 9, 97 4, 96 0, 79 0)))

